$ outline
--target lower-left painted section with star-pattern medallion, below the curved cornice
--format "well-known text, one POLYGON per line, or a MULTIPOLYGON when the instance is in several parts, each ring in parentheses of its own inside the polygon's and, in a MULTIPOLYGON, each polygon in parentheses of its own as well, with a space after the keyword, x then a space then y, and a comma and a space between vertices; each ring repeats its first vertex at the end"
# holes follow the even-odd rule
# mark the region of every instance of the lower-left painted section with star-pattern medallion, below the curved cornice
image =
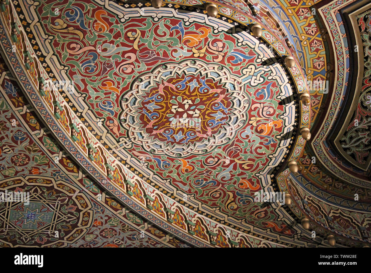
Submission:
MULTIPOLYGON (((4 67, 4 64, 2 62, 0 63, 1 67, 4 67)), ((1 188, 7 189, 9 186, 9 189, 15 189, 16 191, 30 191, 32 186, 31 188, 29 186, 24 188, 26 184, 22 184, 21 180, 20 182, 13 181, 14 179, 12 179, 12 177, 14 177, 14 174, 17 174, 19 177, 25 178, 26 180, 30 177, 32 180, 31 185, 33 186, 47 184, 47 182, 45 182, 45 177, 52 177, 57 181, 57 186, 62 187, 64 190, 68 190, 68 188, 64 184, 58 182, 60 179, 68 181, 70 185, 75 187, 77 184, 79 192, 87 192, 90 197, 89 202, 91 202, 94 207, 94 213, 91 213, 91 216, 94 215, 95 218, 93 219, 92 217, 89 217, 89 215, 83 215, 84 221, 89 221, 90 223, 90 225, 87 225, 86 228, 83 229, 85 235, 83 237, 77 236, 76 238, 75 235, 69 237, 69 240, 67 240, 67 243, 69 244, 67 246, 124 247, 162 246, 162 244, 167 246, 191 246, 195 243, 195 240, 193 240, 191 244, 185 244, 177 238, 174 238, 174 228, 171 228, 168 225, 165 226, 164 230, 159 230, 157 228, 158 219, 156 218, 156 215, 149 214, 132 201, 125 203, 127 200, 124 200, 123 202, 125 204, 121 205, 116 201, 115 194, 109 191, 111 188, 107 191, 102 191, 101 186, 96 185, 96 183, 93 183, 91 179, 83 175, 82 172, 85 172, 85 170, 79 169, 79 167, 73 162, 72 157, 70 157, 71 155, 69 152, 64 151, 66 143, 64 146, 59 146, 59 144, 57 144, 58 141, 54 139, 54 136, 50 131, 40 125, 37 119, 37 114, 34 112, 35 109, 32 108, 31 105, 27 104, 26 97, 24 97, 24 94, 20 91, 21 88, 18 87, 17 82, 14 81, 15 79, 7 77, 7 74, 10 75, 7 71, 2 72, 1 74, 1 92, 3 97, 0 100, 2 109, 2 120, 0 124, 1 133, 3 134, 1 137, 1 143, 4 144, 2 149, 0 149, 2 162, 0 173, 1 177, 4 178, 4 183, 1 184, 1 188), (9 107, 7 103, 11 106, 9 107), (13 112, 10 109, 12 109, 13 112), (21 124, 26 124, 25 126, 27 127, 27 130, 32 136, 25 133, 21 124), (38 145, 39 147, 37 147, 38 145), (9 167, 12 165, 13 167, 9 167), (155 222, 156 225, 152 222, 155 222), (134 229, 129 228, 129 226, 134 229), (167 234, 166 228, 170 230, 171 235, 167 234), (99 237, 94 235, 97 232, 99 232, 99 237), (122 237, 121 240, 114 240, 114 235, 123 235, 124 237, 122 237), (148 235, 152 238, 148 239, 148 235), (129 238, 127 238, 127 236, 129 238), (146 242, 147 239, 148 243, 146 242)), ((114 175, 116 177, 116 174, 114 175)), ((115 181, 117 180, 118 179, 116 178, 115 181)), ((51 183, 49 184, 48 193, 52 192, 52 186, 54 185, 51 183)), ((123 185, 120 184, 120 186, 122 187, 123 185)), ((115 191, 117 191, 117 189, 115 189, 115 191)), ((45 196, 45 193, 43 194, 45 196)), ((50 198, 55 199, 52 196, 50 198)), ((81 198, 79 200, 82 201, 81 198)), ((63 199, 63 202, 58 202, 58 206, 60 205, 65 208, 67 205, 63 204, 68 201, 69 200, 63 199)), ((8 204, 9 203, 6 203, 6 205, 8 204)), ((71 201, 69 201, 69 204, 71 204, 71 201)), ((21 204, 18 202, 16 206, 18 205, 21 206, 19 208, 15 207, 17 211, 25 209, 22 202, 21 204)), ((68 209, 65 209, 64 212, 73 212, 73 208, 74 206, 72 205, 68 206, 68 209)), ((3 209, 6 211, 6 214, 3 215, 3 219, 5 219, 9 216, 11 210, 9 210, 9 206, 5 206, 3 209)), ((30 217, 33 217, 32 214, 30 217)), ((63 218, 66 219, 69 217, 68 215, 63 215, 63 218)), ((8 220, 9 217, 3 222, 4 227, 6 228, 9 228, 9 225, 11 224, 8 220)), ((20 221, 22 220, 12 218, 12 222, 19 224, 20 221)), ((52 235, 48 232, 45 233, 42 230, 43 222, 38 223, 38 225, 34 227, 34 232, 31 234, 33 237, 39 236, 37 240, 35 240, 35 238, 32 240, 32 236, 30 235, 29 237, 26 237, 27 241, 18 239, 13 241, 13 237, 19 236, 20 232, 22 232, 22 227, 18 229, 13 228, 11 232, 6 231, 2 234, 4 236, 1 236, 1 238, 10 238, 11 240, 8 241, 12 241, 12 246, 15 246, 13 243, 17 243, 17 246, 65 246, 65 244, 60 242, 60 240, 52 239, 50 241, 50 236, 53 237, 54 234, 50 230, 50 234, 52 235)), ((75 221, 73 222, 75 223, 75 221)), ((64 238, 66 234, 63 232, 63 225, 58 225, 57 228, 58 229, 55 231, 58 231, 58 236, 60 234, 60 236, 63 236, 64 238)), ((68 231, 70 230, 69 225, 66 228, 68 231)), ((83 234, 81 230, 82 228, 78 228, 78 235, 83 234)), ((184 236, 184 234, 177 234, 178 237, 182 237, 182 235, 184 236)), ((54 238, 61 238, 58 236, 54 238)), ((187 239, 189 240, 190 238, 186 236, 185 241, 187 241, 187 239)), ((6 244, 5 246, 8 245, 6 244)), ((198 246, 206 246, 206 244, 199 243, 198 246)))

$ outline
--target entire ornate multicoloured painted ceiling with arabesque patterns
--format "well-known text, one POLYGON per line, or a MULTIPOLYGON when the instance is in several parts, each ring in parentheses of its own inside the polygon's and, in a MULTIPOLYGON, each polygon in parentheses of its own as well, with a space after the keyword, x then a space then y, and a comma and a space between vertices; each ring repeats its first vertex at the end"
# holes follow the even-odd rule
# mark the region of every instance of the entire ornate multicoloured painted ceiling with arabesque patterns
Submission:
POLYGON ((2 247, 370 245, 371 4, 207 3, 0 5, 2 247))

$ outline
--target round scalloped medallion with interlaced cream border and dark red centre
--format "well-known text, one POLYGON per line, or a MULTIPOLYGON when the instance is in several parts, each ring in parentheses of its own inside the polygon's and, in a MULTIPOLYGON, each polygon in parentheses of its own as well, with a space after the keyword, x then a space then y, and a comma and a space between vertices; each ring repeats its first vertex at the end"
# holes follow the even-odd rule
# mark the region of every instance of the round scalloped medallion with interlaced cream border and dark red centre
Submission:
POLYGON ((133 143, 183 157, 229 142, 246 122, 250 98, 227 68, 187 60, 135 79, 121 106, 122 125, 133 143))

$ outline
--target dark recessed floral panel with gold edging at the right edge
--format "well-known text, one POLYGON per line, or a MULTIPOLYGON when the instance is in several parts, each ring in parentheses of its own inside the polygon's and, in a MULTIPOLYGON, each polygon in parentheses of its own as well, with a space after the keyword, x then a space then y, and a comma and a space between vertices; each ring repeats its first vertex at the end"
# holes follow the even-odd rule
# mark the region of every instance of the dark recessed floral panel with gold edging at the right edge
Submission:
MULTIPOLYGON (((360 3, 361 4, 361 3, 360 3)), ((346 121, 339 126, 339 134, 335 139, 336 148, 354 166, 370 173, 370 35, 371 35, 371 4, 362 6, 349 14, 349 23, 354 31, 357 47, 358 71, 355 76, 354 98, 351 111, 346 121), (360 124, 360 126, 359 126, 360 124), (357 129, 358 128, 358 129, 357 129)))

